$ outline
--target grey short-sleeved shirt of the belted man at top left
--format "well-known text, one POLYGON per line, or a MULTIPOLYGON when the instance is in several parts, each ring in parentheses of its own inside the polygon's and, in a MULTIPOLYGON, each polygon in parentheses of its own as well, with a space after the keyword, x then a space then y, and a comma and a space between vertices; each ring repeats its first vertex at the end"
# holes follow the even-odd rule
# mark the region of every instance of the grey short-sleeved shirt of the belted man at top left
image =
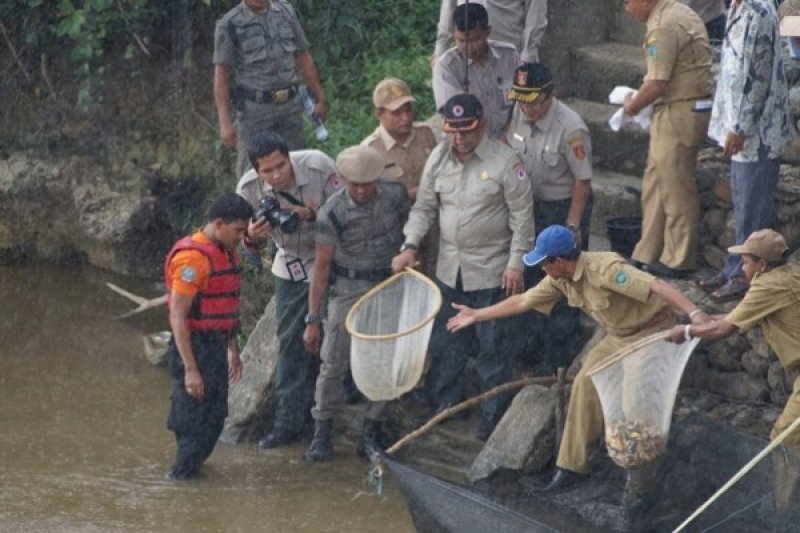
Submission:
POLYGON ((294 8, 284 0, 272 0, 263 13, 242 0, 217 21, 214 32, 214 64, 228 66, 236 85, 254 90, 298 83, 294 53, 307 48, 294 8))

